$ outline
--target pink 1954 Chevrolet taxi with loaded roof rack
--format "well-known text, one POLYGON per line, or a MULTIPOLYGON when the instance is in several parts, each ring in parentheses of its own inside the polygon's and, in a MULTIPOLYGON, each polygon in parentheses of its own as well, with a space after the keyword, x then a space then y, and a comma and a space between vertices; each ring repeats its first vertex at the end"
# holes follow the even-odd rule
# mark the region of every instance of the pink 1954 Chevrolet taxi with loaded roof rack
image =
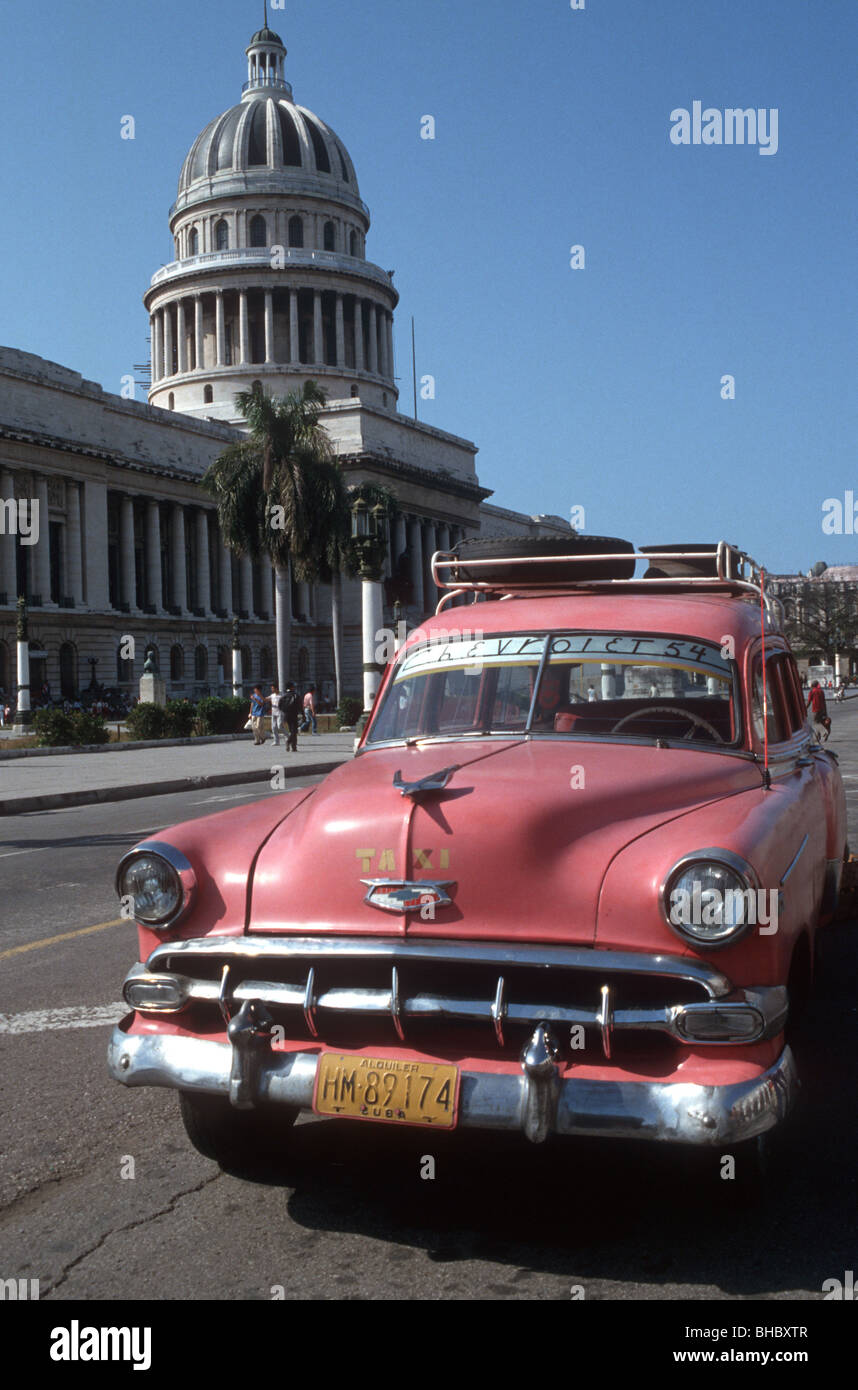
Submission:
POLYGON ((432 571, 353 760, 121 860, 111 1074, 224 1166, 302 1109, 756 1161, 845 858, 758 566, 576 538, 432 571))

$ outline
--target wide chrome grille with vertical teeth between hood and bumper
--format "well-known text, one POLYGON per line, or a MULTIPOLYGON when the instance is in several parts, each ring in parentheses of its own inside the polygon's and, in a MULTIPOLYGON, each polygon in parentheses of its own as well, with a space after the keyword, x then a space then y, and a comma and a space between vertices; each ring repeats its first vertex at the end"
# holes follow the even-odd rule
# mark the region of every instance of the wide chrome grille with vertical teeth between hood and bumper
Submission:
POLYGON ((360 1045, 427 1040, 519 1047, 538 1023, 584 1030, 610 1058, 626 1034, 679 1040, 683 1005, 723 999, 726 976, 667 955, 508 942, 207 937, 165 942, 140 970, 181 981, 185 1006, 267 1006, 288 1037, 360 1045))

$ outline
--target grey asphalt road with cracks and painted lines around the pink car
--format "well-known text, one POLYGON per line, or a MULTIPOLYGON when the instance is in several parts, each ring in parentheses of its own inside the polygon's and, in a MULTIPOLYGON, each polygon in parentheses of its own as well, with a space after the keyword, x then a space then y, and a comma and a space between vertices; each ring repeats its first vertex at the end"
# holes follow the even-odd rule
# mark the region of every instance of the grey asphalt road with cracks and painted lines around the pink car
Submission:
MULTIPOLYGON (((858 828, 858 701, 834 720, 858 828)), ((256 1182, 199 1156, 172 1093, 106 1076, 106 1020, 136 952, 128 923, 103 924, 117 916, 122 849, 260 795, 277 794, 257 783, 1 823, 1 1279, 39 1279, 57 1300, 267 1300, 282 1287, 286 1298, 566 1301, 572 1286, 590 1300, 777 1300, 819 1298, 825 1279, 855 1268, 851 926, 832 929, 802 1048, 804 1113, 756 1208, 719 1179, 715 1155, 645 1145, 430 1141, 306 1118, 282 1166, 256 1182)))

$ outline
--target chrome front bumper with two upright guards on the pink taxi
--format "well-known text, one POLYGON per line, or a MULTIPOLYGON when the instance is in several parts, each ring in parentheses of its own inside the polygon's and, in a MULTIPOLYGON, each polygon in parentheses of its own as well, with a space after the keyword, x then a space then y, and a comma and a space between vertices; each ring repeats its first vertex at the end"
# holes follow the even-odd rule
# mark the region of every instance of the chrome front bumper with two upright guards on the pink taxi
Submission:
MULTIPOLYGON (((124 1086, 209 1091, 241 1109, 259 1102, 311 1109, 317 1052, 273 1052, 253 1020, 242 1024, 238 1016, 229 1037, 131 1034, 120 1024, 108 1047, 110 1074, 124 1086)), ((519 1130, 534 1143, 578 1134, 723 1145, 783 1120, 797 1086, 788 1047, 768 1072, 731 1086, 562 1079, 551 1037, 538 1027, 521 1054, 520 1074, 462 1073, 459 1127, 519 1130)))

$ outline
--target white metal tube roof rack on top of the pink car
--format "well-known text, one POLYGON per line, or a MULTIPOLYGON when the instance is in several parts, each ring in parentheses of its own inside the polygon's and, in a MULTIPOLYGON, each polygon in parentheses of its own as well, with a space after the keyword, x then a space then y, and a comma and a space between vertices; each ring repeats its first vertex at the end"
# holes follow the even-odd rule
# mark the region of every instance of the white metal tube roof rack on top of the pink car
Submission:
POLYGON ((775 595, 766 594, 762 584, 762 567, 744 550, 737 546, 730 545, 727 541, 718 541, 711 549, 702 549, 695 546, 694 549, 674 549, 674 550, 659 550, 654 546, 645 546, 641 550, 626 552, 617 556, 616 552, 606 555, 534 555, 534 556, 503 556, 503 567, 516 567, 521 570, 521 578, 510 582, 509 578, 503 580, 474 580, 463 578, 462 570, 466 570, 469 575, 480 569, 496 569, 498 557, 485 556, 483 559, 466 559, 459 557, 455 550, 437 550, 432 555, 431 570, 432 578, 439 589, 446 589, 448 592, 439 599, 435 613, 441 613, 449 603, 456 598, 462 598, 467 594, 474 595, 474 602, 480 594, 530 594, 530 592, 545 592, 553 591, 566 594, 567 591, 612 591, 612 589, 718 589, 720 592, 733 594, 737 598, 747 595, 755 595, 762 599, 765 605, 766 617, 769 624, 776 630, 783 630, 783 605, 780 599, 775 595), (676 573, 665 574, 659 577, 634 577, 626 580, 576 580, 574 566, 578 564, 592 564, 594 562, 610 562, 610 560, 645 560, 647 564, 652 567, 659 567, 662 564, 673 566, 676 573), (538 570, 540 566, 566 566, 569 564, 569 578, 566 580, 540 580, 538 570), (699 573, 701 570, 712 570, 713 573, 699 573), (441 571, 448 571, 446 577, 442 577, 441 571), (695 573, 697 571, 697 573, 695 573))

